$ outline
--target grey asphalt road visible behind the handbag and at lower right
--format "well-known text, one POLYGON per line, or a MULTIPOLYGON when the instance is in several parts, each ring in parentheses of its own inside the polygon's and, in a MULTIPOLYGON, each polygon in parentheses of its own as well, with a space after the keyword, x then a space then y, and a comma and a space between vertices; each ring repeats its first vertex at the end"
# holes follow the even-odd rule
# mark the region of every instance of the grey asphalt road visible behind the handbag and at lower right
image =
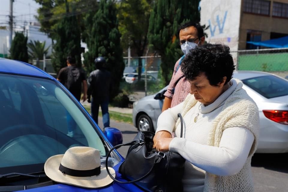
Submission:
MULTIPOLYGON (((102 119, 99 125, 103 127, 102 119)), ((123 142, 133 140, 137 129, 133 125, 111 120, 111 127, 122 131, 123 142)), ((128 147, 118 151, 124 157, 128 147)), ((287 192, 288 191, 288 153, 286 154, 255 154, 252 158, 252 173, 255 183, 255 192, 287 192)))

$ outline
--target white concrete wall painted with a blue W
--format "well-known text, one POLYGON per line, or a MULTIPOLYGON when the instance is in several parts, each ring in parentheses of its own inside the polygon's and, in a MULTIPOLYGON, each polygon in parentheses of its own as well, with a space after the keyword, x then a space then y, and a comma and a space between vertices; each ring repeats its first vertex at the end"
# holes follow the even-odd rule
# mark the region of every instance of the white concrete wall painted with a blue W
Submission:
MULTIPOLYGON (((241 0, 202 0, 200 1, 200 23, 210 26, 205 32, 208 43, 221 43, 238 50, 241 0)), ((237 64, 237 52, 232 52, 237 64)))

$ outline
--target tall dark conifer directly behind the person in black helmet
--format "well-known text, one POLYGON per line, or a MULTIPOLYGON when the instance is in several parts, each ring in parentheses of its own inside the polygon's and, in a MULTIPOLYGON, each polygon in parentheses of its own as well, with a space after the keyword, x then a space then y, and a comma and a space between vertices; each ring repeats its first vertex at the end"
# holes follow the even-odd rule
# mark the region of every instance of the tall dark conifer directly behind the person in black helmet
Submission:
POLYGON ((110 99, 112 99, 119 92, 119 82, 125 67, 114 2, 101 0, 97 13, 91 11, 87 14, 85 25, 87 27, 85 42, 89 49, 84 54, 85 67, 88 71, 95 70, 94 59, 98 56, 106 58, 106 67, 113 78, 113 87, 110 94, 110 99))

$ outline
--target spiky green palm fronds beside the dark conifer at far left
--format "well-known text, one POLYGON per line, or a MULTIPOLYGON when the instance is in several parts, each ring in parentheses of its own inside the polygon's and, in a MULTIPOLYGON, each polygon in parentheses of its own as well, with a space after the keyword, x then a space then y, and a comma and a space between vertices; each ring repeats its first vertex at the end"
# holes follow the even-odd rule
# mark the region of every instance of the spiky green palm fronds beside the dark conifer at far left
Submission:
POLYGON ((45 48, 45 44, 46 41, 40 42, 37 40, 33 42, 30 40, 30 42, 27 44, 28 48, 30 49, 28 50, 30 57, 43 59, 43 55, 47 55, 50 48, 50 46, 45 48))

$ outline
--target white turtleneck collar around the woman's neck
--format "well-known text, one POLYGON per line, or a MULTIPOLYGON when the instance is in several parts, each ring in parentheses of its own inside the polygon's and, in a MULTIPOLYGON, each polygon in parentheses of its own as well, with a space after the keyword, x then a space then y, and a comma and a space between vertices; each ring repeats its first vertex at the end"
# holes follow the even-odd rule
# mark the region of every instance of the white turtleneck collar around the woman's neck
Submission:
POLYGON ((213 103, 204 106, 201 104, 201 113, 210 113, 211 111, 217 109, 218 107, 224 105, 226 99, 233 93, 235 88, 237 87, 237 82, 234 79, 231 79, 229 82, 230 87, 223 92, 213 103))

